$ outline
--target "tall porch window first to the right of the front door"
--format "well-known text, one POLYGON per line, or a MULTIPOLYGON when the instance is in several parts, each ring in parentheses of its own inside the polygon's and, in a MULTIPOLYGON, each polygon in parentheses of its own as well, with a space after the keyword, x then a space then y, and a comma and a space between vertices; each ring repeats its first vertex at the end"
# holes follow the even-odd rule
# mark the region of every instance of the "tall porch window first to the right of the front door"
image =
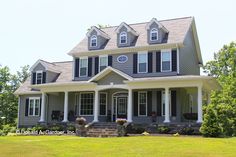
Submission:
POLYGON ((147 116, 147 92, 138 93, 139 116, 147 116))

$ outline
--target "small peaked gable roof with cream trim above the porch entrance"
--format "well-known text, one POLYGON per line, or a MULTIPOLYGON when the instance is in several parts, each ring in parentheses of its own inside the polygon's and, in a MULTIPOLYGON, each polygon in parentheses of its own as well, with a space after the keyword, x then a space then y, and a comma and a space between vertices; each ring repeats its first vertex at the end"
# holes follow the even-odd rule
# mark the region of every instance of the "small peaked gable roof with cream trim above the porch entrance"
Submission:
POLYGON ((115 68, 108 66, 103 71, 101 71, 97 75, 93 76, 90 80, 88 80, 88 82, 98 81, 98 80, 102 79, 103 77, 105 77, 106 75, 108 75, 110 72, 114 72, 129 81, 133 80, 133 78, 131 76, 123 73, 120 70, 117 70, 115 68))

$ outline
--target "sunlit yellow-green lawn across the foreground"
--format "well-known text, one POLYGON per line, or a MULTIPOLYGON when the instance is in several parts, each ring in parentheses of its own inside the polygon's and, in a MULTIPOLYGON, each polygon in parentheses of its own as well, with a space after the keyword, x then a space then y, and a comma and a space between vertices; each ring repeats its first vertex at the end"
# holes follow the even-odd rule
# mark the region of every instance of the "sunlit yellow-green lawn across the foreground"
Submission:
POLYGON ((236 138, 82 138, 75 136, 0 137, 1 157, 235 157, 236 138))

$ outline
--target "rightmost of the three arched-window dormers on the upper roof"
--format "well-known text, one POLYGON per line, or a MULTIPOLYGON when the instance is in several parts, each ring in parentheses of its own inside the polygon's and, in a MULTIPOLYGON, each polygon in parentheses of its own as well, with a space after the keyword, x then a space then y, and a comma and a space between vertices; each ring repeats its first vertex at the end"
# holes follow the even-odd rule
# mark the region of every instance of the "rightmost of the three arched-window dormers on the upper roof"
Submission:
POLYGON ((146 26, 147 30, 147 42, 149 44, 159 44, 167 42, 169 31, 153 18, 146 26))

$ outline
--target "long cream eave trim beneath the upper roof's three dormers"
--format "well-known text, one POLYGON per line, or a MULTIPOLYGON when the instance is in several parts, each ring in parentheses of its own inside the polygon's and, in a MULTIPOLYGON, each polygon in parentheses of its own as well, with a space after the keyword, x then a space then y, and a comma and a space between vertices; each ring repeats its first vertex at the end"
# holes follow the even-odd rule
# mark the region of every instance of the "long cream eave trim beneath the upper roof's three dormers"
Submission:
POLYGON ((122 47, 116 49, 107 49, 107 50, 96 50, 91 53, 91 51, 84 52, 69 52, 68 55, 73 57, 83 57, 83 56, 94 56, 94 55, 105 55, 105 54, 124 54, 130 52, 139 52, 139 51, 157 51, 161 49, 170 49, 170 48, 181 48, 184 47, 182 42, 180 43, 164 43, 164 44, 153 44, 147 46, 135 46, 135 47, 122 47))

